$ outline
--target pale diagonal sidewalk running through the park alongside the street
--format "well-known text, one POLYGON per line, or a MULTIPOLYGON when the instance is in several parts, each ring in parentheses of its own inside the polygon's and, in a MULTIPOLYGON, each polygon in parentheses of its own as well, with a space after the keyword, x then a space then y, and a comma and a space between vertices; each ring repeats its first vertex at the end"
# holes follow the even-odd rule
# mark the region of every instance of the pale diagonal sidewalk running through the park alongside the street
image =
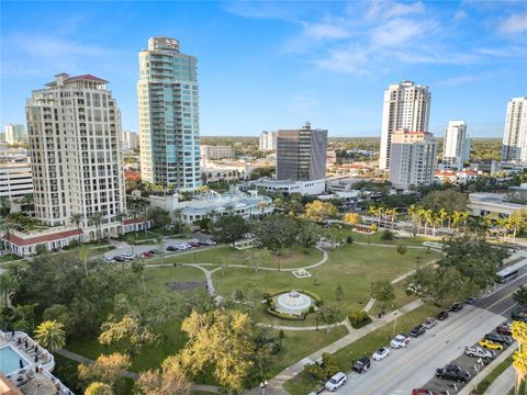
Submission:
MULTIPOLYGON (((285 368, 283 371, 278 373, 273 379, 268 381, 268 387, 266 388, 266 393, 269 392, 269 394, 287 394, 287 392, 282 388, 282 385, 293 379, 296 374, 302 372, 304 369, 305 364, 309 363, 314 363, 317 359, 322 358, 322 354, 325 352, 328 353, 334 353, 341 348, 352 343, 354 341, 359 340, 360 338, 365 337, 366 335, 372 332, 375 329, 379 329, 380 327, 392 323, 395 318, 401 317, 402 315, 410 313, 417 307, 422 306, 423 302, 421 300, 414 301, 412 303, 408 303, 406 306, 403 306, 399 309, 399 314, 394 315, 393 313, 385 315, 382 318, 375 319, 373 323, 360 328, 360 329, 354 329, 349 335, 346 335, 345 337, 338 339, 337 341, 333 342, 329 346, 326 346, 315 352, 313 352, 311 356, 302 359, 301 361, 296 362, 295 364, 285 368)), ((259 387, 253 388, 247 393, 251 394, 260 394, 261 390, 259 387)))

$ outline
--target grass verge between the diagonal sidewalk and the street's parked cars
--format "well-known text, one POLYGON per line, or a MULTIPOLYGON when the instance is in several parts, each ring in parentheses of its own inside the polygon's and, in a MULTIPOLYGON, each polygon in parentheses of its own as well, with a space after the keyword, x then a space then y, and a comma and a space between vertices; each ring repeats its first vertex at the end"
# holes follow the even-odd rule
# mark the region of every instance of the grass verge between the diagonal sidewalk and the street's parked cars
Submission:
MULTIPOLYGON (((435 315, 438 311, 439 308, 433 305, 423 305, 415 311, 399 317, 396 319, 395 332, 408 331, 414 326, 423 323, 426 317, 435 315)), ((336 359, 338 369, 343 372, 347 372, 351 369, 357 359, 362 356, 371 356, 377 349, 388 345, 393 338, 393 323, 389 323, 335 352, 333 356, 336 359)), ((305 395, 322 386, 322 384, 324 383, 317 382, 304 373, 300 373, 294 379, 288 381, 283 386, 292 395, 305 395)))

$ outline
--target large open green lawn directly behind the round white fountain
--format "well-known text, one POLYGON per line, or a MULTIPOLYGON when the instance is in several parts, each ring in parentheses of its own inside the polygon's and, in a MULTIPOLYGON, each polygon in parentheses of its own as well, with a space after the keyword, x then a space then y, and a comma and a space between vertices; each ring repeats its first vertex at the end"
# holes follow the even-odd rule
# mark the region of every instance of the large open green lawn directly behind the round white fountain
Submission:
MULTIPOLYGON (((326 263, 309 272, 313 275, 296 279, 291 272, 278 272, 244 268, 226 268, 213 273, 214 287, 218 294, 229 295, 253 283, 264 293, 288 290, 307 290, 318 294, 325 303, 335 302, 335 291, 343 287, 343 300, 335 302, 345 309, 362 309, 370 298, 371 282, 379 279, 393 280, 415 268, 416 257, 427 262, 439 257, 438 252, 408 249, 403 256, 393 248, 347 245, 329 251, 326 263), (318 285, 315 285, 315 279, 318 285)), ((282 325, 288 325, 283 320, 282 325)), ((310 324, 313 325, 313 324, 310 324)))

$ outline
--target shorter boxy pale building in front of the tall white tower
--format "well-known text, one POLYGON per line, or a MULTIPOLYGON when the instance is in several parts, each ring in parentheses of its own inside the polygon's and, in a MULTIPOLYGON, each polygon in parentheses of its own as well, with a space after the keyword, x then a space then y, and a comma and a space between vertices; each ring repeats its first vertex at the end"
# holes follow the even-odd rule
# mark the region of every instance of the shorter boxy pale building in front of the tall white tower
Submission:
POLYGON ((437 144, 431 133, 395 132, 392 135, 390 182, 411 189, 434 182, 437 144))

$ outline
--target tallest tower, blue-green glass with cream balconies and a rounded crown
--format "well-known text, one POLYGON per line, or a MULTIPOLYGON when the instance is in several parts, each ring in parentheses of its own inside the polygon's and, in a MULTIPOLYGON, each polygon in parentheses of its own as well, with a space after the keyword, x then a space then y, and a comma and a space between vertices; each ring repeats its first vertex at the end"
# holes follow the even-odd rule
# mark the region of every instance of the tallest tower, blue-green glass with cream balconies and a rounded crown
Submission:
POLYGON ((201 184, 198 59, 179 42, 152 37, 139 53, 141 176, 177 189, 201 184))

